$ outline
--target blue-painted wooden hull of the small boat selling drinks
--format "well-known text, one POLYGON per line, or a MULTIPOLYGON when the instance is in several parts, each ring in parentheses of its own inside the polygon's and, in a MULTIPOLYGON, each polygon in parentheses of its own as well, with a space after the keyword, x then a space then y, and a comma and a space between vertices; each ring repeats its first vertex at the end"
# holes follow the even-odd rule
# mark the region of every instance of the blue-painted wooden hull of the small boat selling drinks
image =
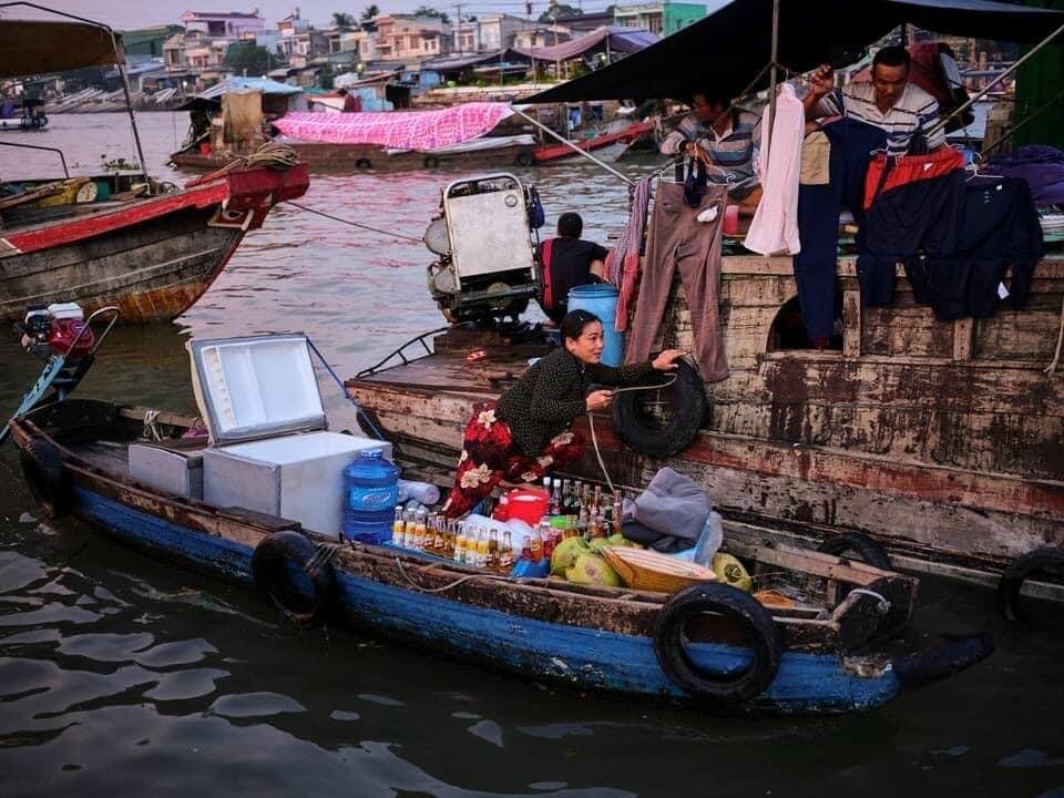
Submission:
MULTIPOLYGON (((95 461, 78 454, 78 441, 94 440, 101 429, 114 426, 116 418, 124 417, 129 424, 142 415, 143 410, 68 400, 12 421, 12 431, 23 450, 38 440, 61 453, 71 511, 78 518, 153 556, 250 585, 255 548, 272 532, 298 529, 298 524, 163 495, 131 482, 122 472, 121 460, 112 461, 112 453, 95 461), (64 448, 63 438, 73 441, 74 448, 64 448)), ((166 415, 158 418, 171 423, 166 415)), ((308 534, 311 540, 317 538, 308 534)), ((779 671, 764 693, 734 708, 785 714, 867 710, 902 690, 891 659, 881 648, 879 654, 873 651, 862 656, 846 652, 867 647, 887 630, 884 623, 891 628, 903 623, 911 610, 914 583, 867 566, 848 566, 827 555, 816 556, 825 559, 823 573, 866 569, 877 586, 883 585, 878 590, 894 597, 896 610, 890 612, 900 615, 882 616, 871 610, 870 614, 863 610, 857 615, 840 614, 841 610, 836 610, 832 618, 841 622, 811 614, 777 620, 785 630, 779 671), (843 647, 848 633, 840 631, 839 624, 847 626, 850 618, 856 618, 857 626, 848 628, 859 627, 863 642, 843 647)), ((344 621, 376 634, 526 681, 699 704, 672 684, 658 664, 653 631, 661 596, 550 580, 500 582, 483 572, 440 567, 413 554, 376 546, 340 546, 334 552, 332 567, 336 612, 344 621), (456 580, 456 575, 468 579, 456 580)), ((843 604, 853 608, 861 601, 866 598, 853 594, 843 604)), ((714 616, 704 618, 715 628, 714 616)), ((714 633, 708 640, 699 638, 702 642, 687 646, 688 654, 707 671, 741 669, 749 652, 728 637, 714 633)))

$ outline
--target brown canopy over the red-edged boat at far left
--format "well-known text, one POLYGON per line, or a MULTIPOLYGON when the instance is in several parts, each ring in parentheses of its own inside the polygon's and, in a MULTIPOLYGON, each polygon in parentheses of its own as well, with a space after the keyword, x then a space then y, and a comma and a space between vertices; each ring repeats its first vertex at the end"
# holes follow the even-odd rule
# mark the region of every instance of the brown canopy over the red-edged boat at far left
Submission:
POLYGON ((69 72, 125 60, 122 39, 84 22, 0 20, 0 78, 69 72), (117 47, 115 47, 117 45, 117 47))

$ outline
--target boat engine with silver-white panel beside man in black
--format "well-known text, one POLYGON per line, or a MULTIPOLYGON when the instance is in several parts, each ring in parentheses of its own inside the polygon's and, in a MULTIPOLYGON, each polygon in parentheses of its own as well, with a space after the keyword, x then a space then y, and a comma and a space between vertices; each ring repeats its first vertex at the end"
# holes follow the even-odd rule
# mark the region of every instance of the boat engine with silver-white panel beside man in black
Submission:
POLYGON ((539 295, 531 191, 511 174, 467 177, 443 190, 423 241, 439 256, 428 269, 429 291, 449 321, 516 320, 539 295))

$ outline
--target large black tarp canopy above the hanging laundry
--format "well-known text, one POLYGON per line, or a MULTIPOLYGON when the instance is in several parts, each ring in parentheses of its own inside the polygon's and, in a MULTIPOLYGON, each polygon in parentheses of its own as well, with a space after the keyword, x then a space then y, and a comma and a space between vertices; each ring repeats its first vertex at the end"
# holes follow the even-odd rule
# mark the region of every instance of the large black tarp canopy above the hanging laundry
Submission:
MULTIPOLYGON (((989 0, 780 0, 779 57, 805 72, 843 66, 870 42, 909 22, 938 33, 1035 42, 1064 12, 989 0)), ((610 66, 526 102, 686 98, 712 86, 737 96, 770 60, 773 0, 733 0, 716 12, 610 66)))

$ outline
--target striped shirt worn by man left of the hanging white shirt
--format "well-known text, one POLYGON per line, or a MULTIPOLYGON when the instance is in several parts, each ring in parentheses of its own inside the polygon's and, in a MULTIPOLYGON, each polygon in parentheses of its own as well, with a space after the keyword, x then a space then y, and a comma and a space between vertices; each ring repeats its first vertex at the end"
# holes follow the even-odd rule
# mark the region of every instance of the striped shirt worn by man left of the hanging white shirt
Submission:
POLYGON ((761 117, 753 111, 733 109, 728 126, 717 133, 710 125, 687 114, 675 131, 662 142, 663 155, 678 155, 687 142, 696 142, 720 170, 709 170, 714 183, 756 184, 754 160, 761 145, 761 117))

